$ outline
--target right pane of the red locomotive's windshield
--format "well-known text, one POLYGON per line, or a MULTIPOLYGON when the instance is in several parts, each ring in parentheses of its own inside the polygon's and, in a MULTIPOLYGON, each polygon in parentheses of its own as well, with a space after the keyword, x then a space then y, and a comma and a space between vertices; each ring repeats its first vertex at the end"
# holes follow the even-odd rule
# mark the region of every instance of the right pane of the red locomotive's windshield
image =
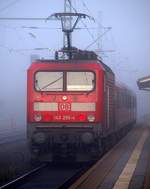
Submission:
POLYGON ((91 91, 94 87, 93 72, 67 72, 67 91, 91 91))

